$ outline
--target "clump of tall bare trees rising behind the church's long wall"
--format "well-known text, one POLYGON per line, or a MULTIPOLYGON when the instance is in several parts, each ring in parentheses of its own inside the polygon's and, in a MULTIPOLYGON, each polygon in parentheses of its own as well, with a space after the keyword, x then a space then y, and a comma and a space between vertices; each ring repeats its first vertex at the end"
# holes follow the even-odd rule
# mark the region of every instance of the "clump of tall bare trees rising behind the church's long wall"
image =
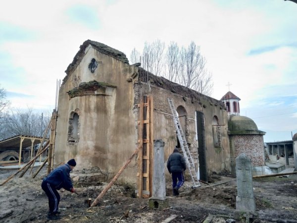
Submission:
POLYGON ((180 49, 177 43, 170 42, 163 56, 164 46, 160 40, 146 42, 143 61, 137 59, 140 53, 135 49, 131 53, 131 61, 142 62, 143 68, 157 76, 164 76, 202 94, 211 95, 212 75, 206 69, 206 60, 200 53, 200 47, 192 41, 188 48, 180 49))

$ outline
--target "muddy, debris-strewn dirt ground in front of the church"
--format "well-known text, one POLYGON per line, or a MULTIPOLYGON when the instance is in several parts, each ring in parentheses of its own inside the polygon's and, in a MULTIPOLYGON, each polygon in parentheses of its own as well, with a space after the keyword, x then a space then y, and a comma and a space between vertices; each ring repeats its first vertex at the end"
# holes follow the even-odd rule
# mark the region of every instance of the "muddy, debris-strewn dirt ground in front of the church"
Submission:
MULTIPOLYGON (((16 170, 0 170, 0 182, 16 170)), ((35 179, 29 174, 16 175, 0 186, 1 223, 44 223, 47 220, 48 199, 41 189, 45 168, 35 179)), ((99 195, 106 182, 75 184, 79 194, 60 190, 59 223, 161 223, 175 217, 170 223, 202 223, 213 215, 209 223, 225 223, 236 211, 236 178, 213 174, 210 184, 192 189, 187 180, 179 196, 172 196, 170 181, 166 185, 169 209, 152 210, 148 199, 134 198, 132 185, 113 185, 99 205, 88 208, 87 200, 99 195)), ((254 223, 297 223, 297 175, 268 177, 253 180, 258 219, 254 223)), ((236 221, 239 223, 240 221, 236 221)))

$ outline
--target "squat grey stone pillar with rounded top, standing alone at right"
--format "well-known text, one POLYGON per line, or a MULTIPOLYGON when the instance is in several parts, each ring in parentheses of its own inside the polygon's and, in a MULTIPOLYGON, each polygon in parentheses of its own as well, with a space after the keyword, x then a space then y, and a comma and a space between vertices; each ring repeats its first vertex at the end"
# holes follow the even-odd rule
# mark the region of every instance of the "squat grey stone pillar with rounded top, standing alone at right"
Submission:
POLYGON ((252 167, 250 159, 242 153, 236 158, 237 197, 236 210, 255 212, 256 205, 252 188, 252 167))

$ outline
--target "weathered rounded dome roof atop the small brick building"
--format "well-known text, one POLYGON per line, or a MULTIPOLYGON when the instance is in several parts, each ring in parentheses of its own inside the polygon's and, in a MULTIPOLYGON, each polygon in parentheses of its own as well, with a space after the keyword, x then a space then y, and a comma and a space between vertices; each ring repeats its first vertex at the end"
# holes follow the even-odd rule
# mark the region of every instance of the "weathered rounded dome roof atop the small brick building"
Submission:
POLYGON ((265 135, 265 132, 258 130, 256 123, 246 116, 232 115, 228 125, 232 134, 265 135))

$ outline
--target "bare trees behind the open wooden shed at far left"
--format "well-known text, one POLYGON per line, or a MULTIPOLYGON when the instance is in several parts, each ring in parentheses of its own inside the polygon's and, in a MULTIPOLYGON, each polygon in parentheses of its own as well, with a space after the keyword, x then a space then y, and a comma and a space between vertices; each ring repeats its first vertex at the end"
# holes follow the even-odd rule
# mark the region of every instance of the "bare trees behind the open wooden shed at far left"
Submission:
POLYGON ((32 108, 27 111, 9 110, 0 122, 0 140, 15 135, 43 136, 50 115, 36 113, 32 108))

